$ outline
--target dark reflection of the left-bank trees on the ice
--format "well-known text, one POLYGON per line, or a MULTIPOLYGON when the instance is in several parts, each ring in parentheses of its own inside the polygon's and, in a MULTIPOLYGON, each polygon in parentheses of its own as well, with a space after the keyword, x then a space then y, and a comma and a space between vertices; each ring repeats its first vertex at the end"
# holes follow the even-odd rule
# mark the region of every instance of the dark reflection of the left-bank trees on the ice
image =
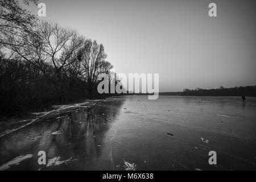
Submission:
MULTIPOLYGON (((122 102, 115 100, 105 105, 74 107, 75 110, 65 110, 59 115, 49 114, 0 138, 0 166, 13 164, 12 159, 16 156, 31 152, 34 156, 30 156, 32 159, 25 165, 26 169, 43 170, 56 166, 60 166, 59 169, 89 169, 102 154, 105 133, 122 102), (37 162, 39 151, 47 154, 48 163, 43 167, 37 162), (75 163, 73 168, 65 165, 69 163, 75 163)), ((1 169, 8 169, 5 166, 1 169)), ((24 169, 20 167, 10 169, 24 169)))

